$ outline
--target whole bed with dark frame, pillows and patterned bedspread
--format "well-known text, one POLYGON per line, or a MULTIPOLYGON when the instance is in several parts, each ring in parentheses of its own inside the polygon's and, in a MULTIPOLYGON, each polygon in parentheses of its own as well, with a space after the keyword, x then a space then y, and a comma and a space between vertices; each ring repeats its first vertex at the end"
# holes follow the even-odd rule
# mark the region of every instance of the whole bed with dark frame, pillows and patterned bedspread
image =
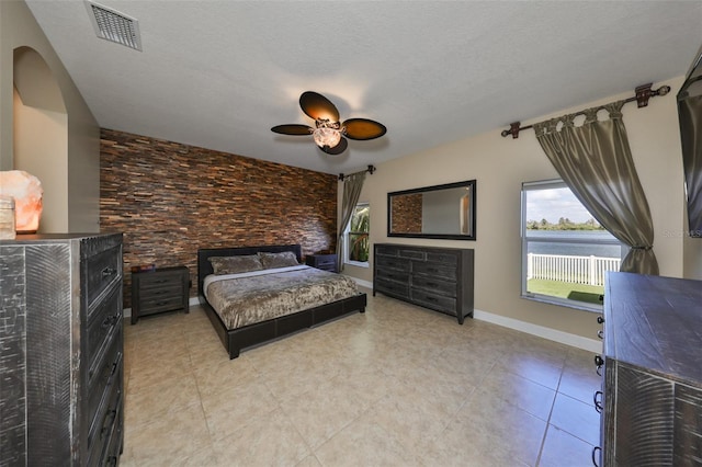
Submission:
POLYGON ((299 244, 197 250, 199 299, 229 358, 242 349, 365 311, 366 296, 350 278, 292 263, 302 263, 299 244), (249 267, 257 258, 262 267, 249 267))

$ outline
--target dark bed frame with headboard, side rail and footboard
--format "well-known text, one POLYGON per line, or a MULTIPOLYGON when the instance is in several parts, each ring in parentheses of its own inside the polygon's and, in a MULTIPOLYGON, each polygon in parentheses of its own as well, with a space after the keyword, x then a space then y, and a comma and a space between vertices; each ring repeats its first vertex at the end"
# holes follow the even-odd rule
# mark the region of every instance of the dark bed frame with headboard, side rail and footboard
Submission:
POLYGON ((337 319, 354 311, 365 312, 367 297, 361 293, 353 297, 325 304, 315 308, 298 311, 292 315, 257 322, 238 329, 227 329, 219 315, 207 303, 203 293, 203 283, 208 274, 212 274, 212 264, 207 261, 211 257, 256 254, 259 251, 281 252, 293 251, 301 261, 299 244, 246 247, 227 249, 201 249, 197 251, 197 285, 200 304, 205 309, 212 326, 215 328, 219 340, 229 353, 229 358, 239 356, 242 349, 260 344, 285 334, 312 328, 317 324, 337 319))

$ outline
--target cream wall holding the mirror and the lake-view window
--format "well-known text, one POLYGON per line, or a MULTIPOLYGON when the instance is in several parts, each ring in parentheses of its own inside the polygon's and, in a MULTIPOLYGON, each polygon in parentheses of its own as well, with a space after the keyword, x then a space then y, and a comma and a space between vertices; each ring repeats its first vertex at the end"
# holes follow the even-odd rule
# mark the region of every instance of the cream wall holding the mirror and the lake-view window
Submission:
MULTIPOLYGON (((630 145, 638 175, 650 205, 661 275, 683 276, 683 238, 664 235, 683 227, 682 156, 675 94, 682 77, 665 83, 672 91, 654 98, 648 107, 629 103, 623 109, 630 145)), ((553 115, 576 112, 633 95, 625 93, 565 109, 553 115)), ((522 182, 558 178, 532 130, 518 139, 502 138, 500 130, 450 143, 377 166, 366 178, 361 201, 371 204, 371 242, 401 242, 475 249, 475 308, 506 319, 524 321, 566 333, 595 338, 598 324, 592 312, 520 298, 521 242, 520 190, 522 182), (476 241, 388 239, 387 192, 477 180, 476 241)), ((695 254, 699 254, 695 253, 695 254)), ((372 264, 373 258, 371 258, 372 264)), ((372 282, 372 267, 347 266, 344 273, 372 282)))

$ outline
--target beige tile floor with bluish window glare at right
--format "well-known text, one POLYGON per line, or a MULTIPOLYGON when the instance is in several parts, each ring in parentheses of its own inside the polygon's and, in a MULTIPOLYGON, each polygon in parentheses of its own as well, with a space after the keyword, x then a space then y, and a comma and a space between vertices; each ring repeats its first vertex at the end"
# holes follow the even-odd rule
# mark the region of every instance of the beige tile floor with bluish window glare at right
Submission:
POLYGON ((125 324, 123 466, 591 466, 592 354, 369 293, 229 361, 204 311, 125 324))

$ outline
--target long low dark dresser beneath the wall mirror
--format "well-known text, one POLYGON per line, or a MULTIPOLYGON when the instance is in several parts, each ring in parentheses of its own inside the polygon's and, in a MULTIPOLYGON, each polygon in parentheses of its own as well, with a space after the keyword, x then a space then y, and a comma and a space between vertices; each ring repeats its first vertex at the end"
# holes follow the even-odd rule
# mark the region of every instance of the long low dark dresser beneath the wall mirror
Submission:
POLYGON ((463 324, 473 316, 473 269, 471 249, 375 243, 373 295, 452 315, 463 324))

